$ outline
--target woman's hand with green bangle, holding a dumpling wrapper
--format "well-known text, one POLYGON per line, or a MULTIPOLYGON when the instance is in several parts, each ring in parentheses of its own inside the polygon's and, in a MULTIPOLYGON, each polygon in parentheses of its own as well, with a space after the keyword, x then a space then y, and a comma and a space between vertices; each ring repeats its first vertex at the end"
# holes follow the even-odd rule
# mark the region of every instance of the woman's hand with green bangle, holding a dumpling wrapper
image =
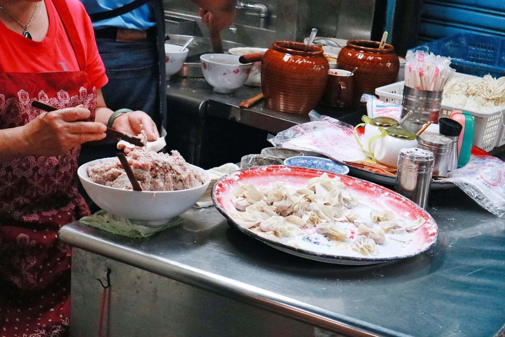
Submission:
POLYGON ((134 111, 118 116, 114 120, 112 128, 134 136, 144 130, 148 141, 154 141, 160 137, 155 122, 143 111, 134 111))

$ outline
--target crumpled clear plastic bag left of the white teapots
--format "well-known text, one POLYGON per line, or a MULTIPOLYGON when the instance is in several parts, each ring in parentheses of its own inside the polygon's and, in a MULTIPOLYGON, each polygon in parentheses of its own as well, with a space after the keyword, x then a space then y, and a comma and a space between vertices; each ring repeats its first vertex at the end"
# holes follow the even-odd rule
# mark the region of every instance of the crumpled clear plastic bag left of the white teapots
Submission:
POLYGON ((333 160, 360 161, 368 158, 354 138, 354 127, 337 119, 309 113, 311 122, 298 124, 268 139, 273 146, 317 152, 333 160))

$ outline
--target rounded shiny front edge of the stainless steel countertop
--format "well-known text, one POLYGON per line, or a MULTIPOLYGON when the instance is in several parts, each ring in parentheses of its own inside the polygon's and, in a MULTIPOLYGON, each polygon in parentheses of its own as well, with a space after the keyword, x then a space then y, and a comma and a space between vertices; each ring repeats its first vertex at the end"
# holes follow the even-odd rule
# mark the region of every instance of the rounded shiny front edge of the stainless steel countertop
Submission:
MULTIPOLYGON (((185 284, 204 288, 228 298, 238 299, 241 302, 314 324, 321 328, 356 336, 379 336, 383 334, 409 336, 398 331, 375 325, 371 326, 366 322, 349 319, 348 317, 334 320, 328 317, 330 316, 328 311, 321 308, 288 297, 279 296, 262 288, 199 270, 176 261, 155 258, 137 250, 126 249, 105 240, 100 240, 96 236, 78 231, 70 226, 64 226, 60 229, 59 238, 72 247, 96 253, 185 284), (125 259, 125 256, 129 258, 125 259), (236 296, 232 297, 231 294, 236 296), (360 328, 356 328, 356 326, 360 328)), ((335 315, 335 313, 332 314, 335 315)))

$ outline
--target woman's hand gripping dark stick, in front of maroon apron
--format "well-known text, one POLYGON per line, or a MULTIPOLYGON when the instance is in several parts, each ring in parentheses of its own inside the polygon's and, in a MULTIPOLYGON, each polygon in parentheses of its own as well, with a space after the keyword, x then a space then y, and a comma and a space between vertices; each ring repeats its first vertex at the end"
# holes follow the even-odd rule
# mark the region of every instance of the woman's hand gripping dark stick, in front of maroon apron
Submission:
POLYGON ((82 105, 40 114, 22 127, 24 152, 58 156, 86 141, 105 138, 104 124, 82 121, 89 115, 89 110, 82 105))

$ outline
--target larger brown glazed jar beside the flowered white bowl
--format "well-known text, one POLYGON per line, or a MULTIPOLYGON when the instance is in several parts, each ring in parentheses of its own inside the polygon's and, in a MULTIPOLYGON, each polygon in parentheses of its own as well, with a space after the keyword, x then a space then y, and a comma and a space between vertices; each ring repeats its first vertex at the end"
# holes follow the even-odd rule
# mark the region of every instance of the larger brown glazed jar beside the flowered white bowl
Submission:
POLYGON ((267 107, 294 114, 316 108, 326 85, 328 60, 321 47, 277 41, 263 56, 261 86, 267 107))

